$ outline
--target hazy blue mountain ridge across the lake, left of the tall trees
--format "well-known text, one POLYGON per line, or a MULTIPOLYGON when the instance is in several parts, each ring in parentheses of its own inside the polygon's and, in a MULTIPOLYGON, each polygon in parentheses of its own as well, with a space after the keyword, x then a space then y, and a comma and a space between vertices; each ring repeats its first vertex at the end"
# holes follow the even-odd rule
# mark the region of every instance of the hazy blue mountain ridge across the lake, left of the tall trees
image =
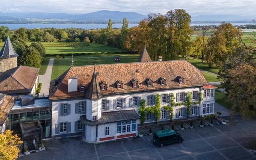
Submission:
MULTIPOLYGON (((136 12, 119 12, 119 11, 109 11, 101 10, 98 12, 91 12, 86 14, 66 14, 66 13, 44 13, 44 12, 34 12, 34 13, 1 13, 0 16, 8 16, 10 20, 12 18, 23 18, 27 21, 38 20, 67 20, 67 21, 85 21, 85 22, 108 22, 112 19, 113 22, 122 22, 122 19, 126 17, 129 22, 140 22, 147 16, 136 13, 136 12)), ((6 19, 6 18, 4 18, 6 19)), ((1 20, 1 19, 0 19, 1 20)))

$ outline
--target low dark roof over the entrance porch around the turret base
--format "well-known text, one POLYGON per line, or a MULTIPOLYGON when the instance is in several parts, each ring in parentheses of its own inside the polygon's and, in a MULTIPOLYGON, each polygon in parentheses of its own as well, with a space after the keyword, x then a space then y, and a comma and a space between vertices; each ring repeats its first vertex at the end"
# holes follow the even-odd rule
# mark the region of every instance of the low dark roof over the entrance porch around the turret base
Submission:
POLYGON ((93 126, 98 124, 107 124, 127 120, 137 120, 140 119, 140 116, 135 112, 135 110, 122 110, 113 112, 102 112, 101 118, 95 121, 87 120, 86 115, 81 116, 80 119, 83 124, 93 126))

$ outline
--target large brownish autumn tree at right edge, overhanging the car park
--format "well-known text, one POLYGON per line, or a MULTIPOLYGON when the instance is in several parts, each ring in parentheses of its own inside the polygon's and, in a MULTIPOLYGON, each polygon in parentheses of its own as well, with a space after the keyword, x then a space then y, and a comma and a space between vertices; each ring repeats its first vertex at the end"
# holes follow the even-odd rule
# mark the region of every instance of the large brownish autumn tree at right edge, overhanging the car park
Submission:
POLYGON ((256 119, 256 51, 239 48, 228 55, 218 77, 223 79, 232 111, 256 119))

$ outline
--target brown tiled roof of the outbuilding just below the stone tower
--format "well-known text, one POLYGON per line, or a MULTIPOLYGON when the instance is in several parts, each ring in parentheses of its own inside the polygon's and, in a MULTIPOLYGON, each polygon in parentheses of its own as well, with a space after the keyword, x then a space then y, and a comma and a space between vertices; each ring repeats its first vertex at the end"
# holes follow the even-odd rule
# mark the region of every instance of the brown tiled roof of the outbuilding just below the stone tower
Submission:
POLYGON ((0 92, 5 94, 30 93, 40 68, 19 66, 0 76, 0 92))

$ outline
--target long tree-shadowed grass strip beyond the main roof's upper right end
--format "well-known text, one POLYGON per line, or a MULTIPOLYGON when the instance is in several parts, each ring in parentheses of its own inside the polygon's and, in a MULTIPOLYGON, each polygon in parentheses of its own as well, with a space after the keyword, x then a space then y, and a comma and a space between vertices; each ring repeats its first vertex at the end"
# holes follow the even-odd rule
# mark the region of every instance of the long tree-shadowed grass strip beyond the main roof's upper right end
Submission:
POLYGON ((190 62, 191 64, 193 64, 197 68, 200 68, 202 70, 206 70, 208 72, 212 72, 212 73, 215 73, 215 74, 218 74, 219 70, 221 69, 220 67, 216 67, 215 65, 213 65, 210 68, 209 65, 206 62, 202 62, 202 60, 199 60, 199 59, 196 59, 196 58, 191 58, 190 57, 188 59, 188 62, 190 62))

